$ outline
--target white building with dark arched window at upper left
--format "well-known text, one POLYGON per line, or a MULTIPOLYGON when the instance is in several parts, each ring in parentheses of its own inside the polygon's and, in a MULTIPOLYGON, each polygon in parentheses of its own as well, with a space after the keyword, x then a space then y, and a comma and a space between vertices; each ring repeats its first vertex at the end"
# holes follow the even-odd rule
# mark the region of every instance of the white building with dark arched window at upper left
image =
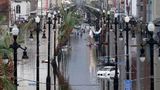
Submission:
POLYGON ((30 9, 29 1, 11 1, 11 20, 27 20, 30 16, 30 9))

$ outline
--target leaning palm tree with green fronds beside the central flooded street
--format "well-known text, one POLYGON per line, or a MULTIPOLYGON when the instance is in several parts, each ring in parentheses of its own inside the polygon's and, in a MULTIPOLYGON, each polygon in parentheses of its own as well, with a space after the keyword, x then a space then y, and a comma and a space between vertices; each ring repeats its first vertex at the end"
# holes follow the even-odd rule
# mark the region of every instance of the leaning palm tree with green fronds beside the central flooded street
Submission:
MULTIPOLYGON (((59 28, 59 35, 58 35, 58 45, 56 47, 56 55, 58 55, 59 51, 61 50, 62 46, 67 43, 69 40, 69 36, 76 24, 81 21, 80 15, 75 13, 75 11, 64 11, 62 9, 62 16, 63 16, 63 23, 61 27, 59 28)), ((52 66, 54 68, 54 73, 56 73, 58 80, 59 80, 59 85, 61 90, 72 90, 71 87, 69 86, 68 81, 64 78, 60 70, 57 68, 57 63, 52 62, 52 66)))

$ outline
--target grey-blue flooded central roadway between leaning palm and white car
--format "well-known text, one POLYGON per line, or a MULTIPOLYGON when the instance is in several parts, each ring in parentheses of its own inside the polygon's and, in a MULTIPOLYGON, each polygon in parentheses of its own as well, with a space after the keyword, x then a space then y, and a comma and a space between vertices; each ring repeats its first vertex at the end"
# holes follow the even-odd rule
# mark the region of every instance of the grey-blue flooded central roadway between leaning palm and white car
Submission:
POLYGON ((71 56, 68 59, 68 77, 72 90, 100 90, 96 78, 94 48, 87 46, 88 34, 72 37, 71 56))

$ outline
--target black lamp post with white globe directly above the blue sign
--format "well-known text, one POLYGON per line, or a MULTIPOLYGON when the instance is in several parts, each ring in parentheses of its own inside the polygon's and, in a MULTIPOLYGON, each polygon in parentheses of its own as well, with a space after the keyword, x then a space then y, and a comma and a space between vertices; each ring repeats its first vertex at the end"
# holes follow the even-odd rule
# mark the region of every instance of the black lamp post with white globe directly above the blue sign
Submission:
POLYGON ((125 23, 126 23, 126 79, 129 80, 129 27, 128 27, 128 23, 130 18, 128 16, 126 16, 124 18, 125 23))

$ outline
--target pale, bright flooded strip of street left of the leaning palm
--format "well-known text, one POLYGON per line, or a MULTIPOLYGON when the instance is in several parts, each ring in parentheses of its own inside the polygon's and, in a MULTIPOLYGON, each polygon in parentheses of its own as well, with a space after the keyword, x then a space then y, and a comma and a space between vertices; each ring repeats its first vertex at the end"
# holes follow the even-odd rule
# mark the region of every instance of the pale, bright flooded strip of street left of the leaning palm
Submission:
MULTIPOLYGON (((39 47, 39 77, 40 77, 40 90, 46 89, 46 76, 47 76, 47 63, 42 63, 42 60, 47 59, 47 39, 42 40, 42 33, 40 33, 40 47, 39 47)), ((21 57, 18 59, 18 90, 35 90, 36 89, 36 36, 34 40, 27 41, 27 53, 29 56, 28 60, 22 60, 21 57)), ((21 53, 22 51, 18 51, 21 53)), ((22 55, 18 55, 22 56, 22 55)))

